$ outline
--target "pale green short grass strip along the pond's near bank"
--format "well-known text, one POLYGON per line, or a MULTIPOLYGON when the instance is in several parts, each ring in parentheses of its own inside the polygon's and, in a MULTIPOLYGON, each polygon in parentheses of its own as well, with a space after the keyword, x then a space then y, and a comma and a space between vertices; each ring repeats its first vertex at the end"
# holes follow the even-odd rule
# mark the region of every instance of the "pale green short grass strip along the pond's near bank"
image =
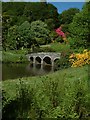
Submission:
MULTIPOLYGON (((84 67, 78 67, 78 68, 68 68, 68 69, 56 71, 49 75, 37 76, 37 77, 23 77, 21 80, 24 80, 26 84, 31 85, 32 87, 35 87, 35 86, 40 87, 42 85, 42 80, 44 79, 46 81, 56 80, 56 81, 59 81, 60 84, 63 83, 64 81, 66 81, 67 83, 69 82, 73 83, 74 81, 85 80, 85 82, 87 82, 88 67, 84 66, 84 67)), ((13 97, 15 95, 14 93, 16 89, 16 84, 19 83, 19 79, 6 80, 6 81, 3 81, 2 83, 3 83, 3 89, 7 91, 9 96, 13 97)))

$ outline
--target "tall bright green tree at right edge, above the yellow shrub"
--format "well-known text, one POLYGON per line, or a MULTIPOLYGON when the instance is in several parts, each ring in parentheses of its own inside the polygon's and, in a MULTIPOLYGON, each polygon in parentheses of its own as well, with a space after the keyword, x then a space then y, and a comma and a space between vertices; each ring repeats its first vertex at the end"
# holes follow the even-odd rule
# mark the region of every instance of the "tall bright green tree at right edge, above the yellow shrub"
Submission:
MULTIPOLYGON (((88 24, 90 21, 90 15, 88 12, 88 7, 90 2, 86 4, 86 7, 82 11, 76 14, 73 18, 72 23, 69 26, 70 35, 73 40, 73 47, 88 47, 89 40, 89 28, 88 24)), ((71 45, 72 46, 72 45, 71 45)))

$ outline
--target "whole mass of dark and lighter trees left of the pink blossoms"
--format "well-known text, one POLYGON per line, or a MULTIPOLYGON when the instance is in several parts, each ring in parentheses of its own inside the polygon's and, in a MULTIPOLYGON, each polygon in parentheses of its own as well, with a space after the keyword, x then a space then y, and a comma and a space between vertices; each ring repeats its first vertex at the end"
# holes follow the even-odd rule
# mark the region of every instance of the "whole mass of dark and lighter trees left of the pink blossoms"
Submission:
POLYGON ((50 42, 49 30, 58 26, 56 7, 46 2, 3 2, 2 6, 4 50, 50 42))

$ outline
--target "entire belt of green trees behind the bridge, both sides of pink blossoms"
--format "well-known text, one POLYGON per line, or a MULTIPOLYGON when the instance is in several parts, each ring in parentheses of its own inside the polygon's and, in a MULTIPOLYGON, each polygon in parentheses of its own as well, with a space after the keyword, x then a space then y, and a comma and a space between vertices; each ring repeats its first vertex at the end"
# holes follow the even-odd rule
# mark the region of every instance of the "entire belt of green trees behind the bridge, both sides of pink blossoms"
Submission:
POLYGON ((61 14, 58 14, 55 6, 47 2, 3 2, 2 6, 4 50, 30 48, 33 44, 47 44, 54 39, 63 42, 55 34, 55 28, 61 24, 64 24, 66 36, 69 34, 67 37, 71 47, 89 46, 90 2, 81 11, 70 8, 61 14))

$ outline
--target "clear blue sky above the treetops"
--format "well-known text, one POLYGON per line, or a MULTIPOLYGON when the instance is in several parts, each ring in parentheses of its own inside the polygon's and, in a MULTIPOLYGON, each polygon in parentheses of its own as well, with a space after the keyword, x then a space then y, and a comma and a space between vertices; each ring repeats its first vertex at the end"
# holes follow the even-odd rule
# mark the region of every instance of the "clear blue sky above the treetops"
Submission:
MULTIPOLYGON (((8 2, 10 0, 3 0, 3 1, 8 2)), ((11 1, 39 2, 39 1, 45 1, 45 0, 11 0, 11 1)), ((61 13, 64 10, 67 10, 69 8, 78 8, 81 10, 84 5, 84 2, 85 2, 85 0, 46 0, 46 1, 53 4, 58 9, 59 13, 61 13), (81 2, 79 2, 79 1, 81 1, 81 2)))

